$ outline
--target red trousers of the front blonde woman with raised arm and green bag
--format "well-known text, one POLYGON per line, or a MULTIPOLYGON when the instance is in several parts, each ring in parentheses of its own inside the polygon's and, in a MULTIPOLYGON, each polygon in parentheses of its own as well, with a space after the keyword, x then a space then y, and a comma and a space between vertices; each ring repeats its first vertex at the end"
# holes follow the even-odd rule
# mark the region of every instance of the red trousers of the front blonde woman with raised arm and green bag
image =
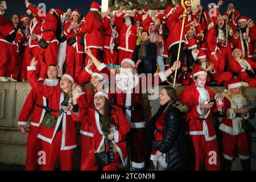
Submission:
POLYGON ((57 131, 52 144, 42 140, 42 150, 46 152, 46 164, 42 164, 42 171, 53 171, 57 159, 60 160, 61 171, 72 171, 73 169, 73 149, 60 150, 62 130, 57 131))

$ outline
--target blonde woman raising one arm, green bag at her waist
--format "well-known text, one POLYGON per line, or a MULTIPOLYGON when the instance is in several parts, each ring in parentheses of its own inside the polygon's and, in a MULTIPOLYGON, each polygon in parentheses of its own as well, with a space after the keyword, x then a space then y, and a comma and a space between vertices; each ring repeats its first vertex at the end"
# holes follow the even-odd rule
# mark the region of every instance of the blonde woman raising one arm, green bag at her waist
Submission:
POLYGON ((27 67, 27 77, 32 89, 48 100, 47 114, 40 125, 38 138, 42 139, 42 151, 46 158, 42 170, 54 170, 57 159, 61 171, 73 169, 73 148, 76 148, 76 127, 72 121, 71 98, 74 79, 65 73, 56 86, 47 86, 36 77, 35 57, 27 67))

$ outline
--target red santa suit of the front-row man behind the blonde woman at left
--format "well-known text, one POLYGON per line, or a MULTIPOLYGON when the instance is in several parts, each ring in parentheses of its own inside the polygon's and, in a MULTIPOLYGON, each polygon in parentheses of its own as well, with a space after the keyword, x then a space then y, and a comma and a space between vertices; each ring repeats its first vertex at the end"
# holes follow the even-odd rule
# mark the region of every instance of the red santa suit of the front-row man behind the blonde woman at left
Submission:
MULTIPOLYGON (((59 80, 44 80, 44 85, 47 86, 55 86, 59 84, 59 80)), ((27 136, 27 152, 26 152, 26 163, 25 170, 26 171, 36 171, 38 169, 38 152, 42 150, 41 140, 38 138, 39 126, 41 125, 44 115, 46 114, 46 110, 40 106, 47 106, 46 97, 41 96, 36 93, 34 89, 30 91, 27 96, 26 101, 20 111, 18 118, 18 125, 27 125, 28 118, 30 118, 30 114, 32 113, 32 117, 30 119, 30 130, 27 136)))

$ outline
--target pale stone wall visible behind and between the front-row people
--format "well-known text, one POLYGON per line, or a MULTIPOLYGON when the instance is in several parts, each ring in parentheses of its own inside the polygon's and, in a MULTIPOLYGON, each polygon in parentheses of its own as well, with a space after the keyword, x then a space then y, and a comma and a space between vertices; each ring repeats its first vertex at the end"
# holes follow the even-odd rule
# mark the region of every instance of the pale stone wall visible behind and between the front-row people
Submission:
MULTIPOLYGON (((162 88, 163 86, 160 86, 162 88)), ((159 88, 159 89, 160 89, 159 88)), ((183 86, 177 86, 177 94, 180 94, 183 90, 183 86)), ((27 134, 20 134, 18 131, 18 117, 20 110, 26 100, 28 93, 30 92, 30 85, 23 82, 0 82, 0 163, 13 163, 24 165, 26 158, 26 139, 27 134)), ((213 92, 222 92, 224 88, 215 87, 211 88, 213 92)), ((256 88, 243 88, 243 95, 251 102, 253 107, 256 107, 256 88)), ((146 96, 146 95, 145 95, 146 96)), ((145 97, 146 98, 146 97, 145 97)), ((155 114, 159 108, 158 100, 143 101, 144 109, 146 113, 146 121, 148 122, 150 117, 155 114)), ((251 119, 252 123, 256 127, 256 119, 251 119)), ((77 126, 78 140, 80 143, 79 127, 77 126)), ((252 166, 256 169, 256 135, 253 135, 252 144, 252 166)), ((80 146, 75 150, 75 168, 79 168, 80 164, 80 146)), ((238 160, 233 164, 234 169, 241 169, 238 160)))

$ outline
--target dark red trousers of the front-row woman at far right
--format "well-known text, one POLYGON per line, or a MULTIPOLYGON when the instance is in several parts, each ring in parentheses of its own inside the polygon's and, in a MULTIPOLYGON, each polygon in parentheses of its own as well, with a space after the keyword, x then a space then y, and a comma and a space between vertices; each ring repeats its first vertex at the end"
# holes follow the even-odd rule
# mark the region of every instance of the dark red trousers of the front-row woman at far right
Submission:
POLYGON ((246 133, 240 133, 239 135, 230 135, 222 132, 222 145, 224 158, 232 160, 240 155, 241 159, 249 158, 248 140, 246 133))

